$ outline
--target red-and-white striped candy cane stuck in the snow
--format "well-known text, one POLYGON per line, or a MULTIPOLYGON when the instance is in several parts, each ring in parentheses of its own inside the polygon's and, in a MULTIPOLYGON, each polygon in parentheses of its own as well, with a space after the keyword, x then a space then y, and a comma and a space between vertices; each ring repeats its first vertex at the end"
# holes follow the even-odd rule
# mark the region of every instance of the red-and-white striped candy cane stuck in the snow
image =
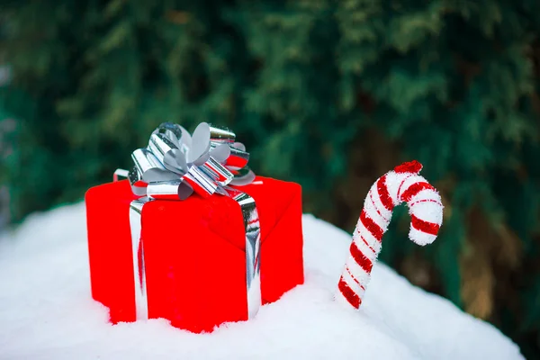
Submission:
POLYGON ((338 300, 355 309, 360 307, 394 206, 407 202, 412 241, 424 246, 437 238, 443 222, 443 204, 437 190, 419 175, 421 169, 422 165, 413 160, 396 166, 372 185, 356 224, 345 270, 339 279, 338 300))

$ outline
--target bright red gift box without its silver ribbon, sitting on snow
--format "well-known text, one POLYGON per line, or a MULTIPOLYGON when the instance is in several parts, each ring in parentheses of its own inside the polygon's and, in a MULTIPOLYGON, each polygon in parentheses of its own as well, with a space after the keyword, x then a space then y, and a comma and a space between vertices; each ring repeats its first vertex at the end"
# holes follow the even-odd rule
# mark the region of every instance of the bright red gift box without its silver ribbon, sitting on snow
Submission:
MULTIPOLYGON (((258 176, 238 187, 256 202, 260 220, 262 302, 275 302, 303 283, 302 188, 258 176)), ((85 196, 92 296, 113 323, 135 321, 135 281, 128 181, 95 186, 85 196)), ((147 202, 141 240, 148 318, 180 329, 211 331, 247 320, 246 243, 233 199, 193 195, 147 202)))

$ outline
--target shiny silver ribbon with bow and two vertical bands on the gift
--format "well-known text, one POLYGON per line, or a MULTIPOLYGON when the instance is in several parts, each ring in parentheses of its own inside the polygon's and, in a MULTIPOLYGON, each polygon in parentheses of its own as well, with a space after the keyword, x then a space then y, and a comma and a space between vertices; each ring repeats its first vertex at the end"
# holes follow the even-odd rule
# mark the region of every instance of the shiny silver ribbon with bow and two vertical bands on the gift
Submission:
POLYGON ((247 166, 249 154, 235 142, 229 129, 200 123, 193 136, 171 122, 152 132, 147 148, 131 154, 130 171, 117 169, 119 177, 130 180, 131 190, 142 196, 130 203, 130 229, 133 255, 133 279, 137 319, 148 319, 148 299, 144 268, 144 248, 140 241, 141 212, 146 202, 187 199, 193 193, 207 198, 214 193, 238 202, 246 229, 247 314, 252 319, 261 305, 260 222, 255 200, 237 187, 250 184, 255 174, 247 166))

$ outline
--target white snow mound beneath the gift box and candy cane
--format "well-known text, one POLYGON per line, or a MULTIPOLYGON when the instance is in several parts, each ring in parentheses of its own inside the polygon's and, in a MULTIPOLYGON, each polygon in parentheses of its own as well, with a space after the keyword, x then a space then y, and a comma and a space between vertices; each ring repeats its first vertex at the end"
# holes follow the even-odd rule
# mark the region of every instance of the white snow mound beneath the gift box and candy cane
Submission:
MULTIPOLYGON (((195 335, 166 320, 112 326, 90 296, 85 207, 0 236, 0 359, 522 359, 488 323, 374 266, 361 311, 332 301, 351 238, 304 215, 306 284, 257 318, 195 335)), ((404 241, 407 240, 404 238, 404 241)))

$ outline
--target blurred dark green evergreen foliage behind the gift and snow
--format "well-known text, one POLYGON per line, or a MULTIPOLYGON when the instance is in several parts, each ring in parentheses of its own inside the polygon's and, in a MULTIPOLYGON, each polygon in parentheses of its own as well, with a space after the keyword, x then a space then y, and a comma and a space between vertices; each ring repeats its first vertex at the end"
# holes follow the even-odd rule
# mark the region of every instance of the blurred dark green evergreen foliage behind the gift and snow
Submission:
POLYGON ((4 0, 0 221, 80 201, 162 121, 229 126, 347 232, 416 158, 445 222, 416 247, 399 208, 383 261, 538 358, 539 36, 537 0, 4 0))

